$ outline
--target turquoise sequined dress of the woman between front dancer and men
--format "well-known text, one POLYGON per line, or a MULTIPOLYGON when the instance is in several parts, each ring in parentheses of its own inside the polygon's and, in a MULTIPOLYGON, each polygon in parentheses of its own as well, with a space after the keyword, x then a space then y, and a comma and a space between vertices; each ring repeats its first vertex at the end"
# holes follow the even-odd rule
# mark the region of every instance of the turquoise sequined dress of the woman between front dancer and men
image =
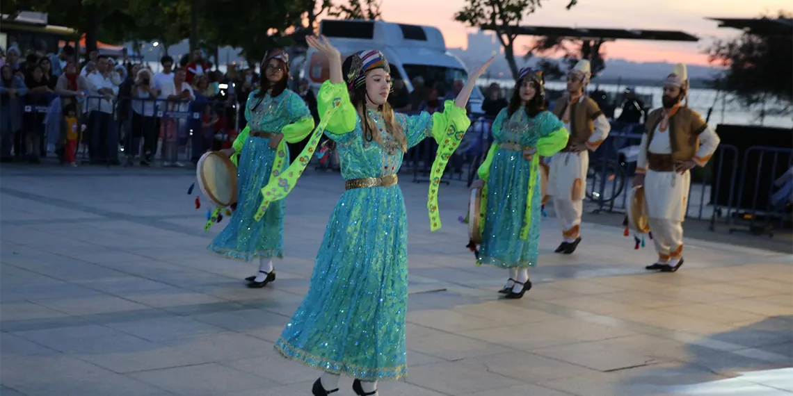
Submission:
POLYGON ((534 117, 521 107, 512 116, 503 109, 492 124, 493 145, 479 169, 487 183, 484 230, 479 253, 481 264, 501 268, 537 265, 542 196, 537 164, 523 158, 524 147, 534 147, 538 156, 550 156, 565 147, 568 133, 551 112, 534 117), (530 192, 530 181, 534 186, 530 192), (521 238, 529 211, 528 235, 521 238))

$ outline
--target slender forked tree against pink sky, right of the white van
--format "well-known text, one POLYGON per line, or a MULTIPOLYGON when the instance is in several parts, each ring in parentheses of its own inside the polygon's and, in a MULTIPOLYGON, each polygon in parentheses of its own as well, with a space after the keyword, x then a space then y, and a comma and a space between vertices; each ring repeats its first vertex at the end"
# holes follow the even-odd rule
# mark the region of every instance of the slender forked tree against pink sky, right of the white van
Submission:
MULTIPOLYGON (((577 0, 568 0, 567 10, 577 0)), ((492 29, 504 47, 512 78, 518 78, 515 63, 515 39, 519 36, 519 24, 523 17, 534 13, 542 6, 542 0, 465 0, 465 6, 454 14, 454 20, 473 28, 492 29)))

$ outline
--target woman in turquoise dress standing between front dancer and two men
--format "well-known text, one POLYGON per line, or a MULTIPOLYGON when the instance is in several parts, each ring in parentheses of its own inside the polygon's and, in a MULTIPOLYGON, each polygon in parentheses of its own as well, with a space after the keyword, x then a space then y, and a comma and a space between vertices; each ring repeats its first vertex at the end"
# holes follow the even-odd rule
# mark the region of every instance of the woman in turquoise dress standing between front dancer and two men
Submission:
POLYGON ((556 154, 568 139, 564 124, 545 109, 542 72, 520 70, 509 106, 493 121, 492 135, 478 171, 481 181, 474 185, 483 188, 477 261, 509 268, 509 280, 499 292, 519 299, 531 289, 528 268, 537 265, 542 205, 538 156, 556 154))

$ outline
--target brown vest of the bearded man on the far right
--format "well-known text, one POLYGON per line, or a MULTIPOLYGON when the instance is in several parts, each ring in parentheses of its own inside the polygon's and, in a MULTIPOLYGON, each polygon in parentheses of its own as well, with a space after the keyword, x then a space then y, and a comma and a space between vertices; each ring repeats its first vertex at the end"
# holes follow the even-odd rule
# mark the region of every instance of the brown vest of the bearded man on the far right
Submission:
MULTIPOLYGON (((645 123, 647 133, 647 147, 653 141, 653 135, 658 128, 658 124, 664 118, 663 109, 655 109, 647 115, 645 123)), ((694 158, 696 150, 699 149, 699 134, 702 133, 707 124, 699 116, 698 112, 680 106, 679 109, 669 117, 669 143, 672 146, 672 163, 689 161, 694 158)))

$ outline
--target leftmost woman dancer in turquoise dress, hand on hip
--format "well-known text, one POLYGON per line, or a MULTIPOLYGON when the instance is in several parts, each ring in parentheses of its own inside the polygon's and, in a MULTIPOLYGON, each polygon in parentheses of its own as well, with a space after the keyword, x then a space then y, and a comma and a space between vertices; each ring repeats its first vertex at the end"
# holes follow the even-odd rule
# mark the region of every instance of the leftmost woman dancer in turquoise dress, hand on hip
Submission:
POLYGON ((223 150, 239 162, 237 206, 223 231, 209 249, 228 258, 251 261, 259 258, 259 272, 246 278, 248 287, 264 287, 275 280, 273 257, 283 257, 284 201, 271 202, 263 221, 255 219, 262 188, 289 166, 288 143, 300 142, 311 133, 314 119, 305 101, 286 89, 289 56, 280 49, 265 55, 259 89, 245 104, 245 128, 233 147, 223 150), (239 156, 239 160, 237 157, 239 156))

